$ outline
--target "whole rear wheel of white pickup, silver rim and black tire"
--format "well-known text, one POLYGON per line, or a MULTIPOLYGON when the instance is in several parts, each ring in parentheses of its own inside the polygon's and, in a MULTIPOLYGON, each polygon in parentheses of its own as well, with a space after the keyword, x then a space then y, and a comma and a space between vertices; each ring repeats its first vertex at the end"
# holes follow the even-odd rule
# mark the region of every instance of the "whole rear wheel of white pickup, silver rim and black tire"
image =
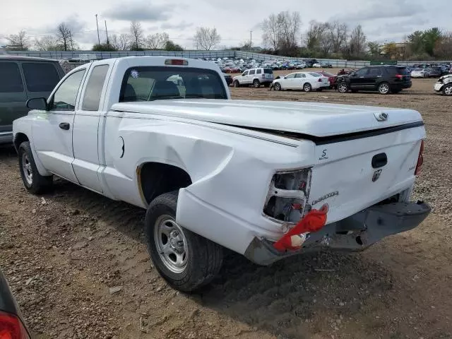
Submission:
POLYGON ((162 194, 149 205, 145 230, 150 258, 169 285, 191 292, 210 283, 222 266, 222 246, 176 222, 179 191, 162 194))

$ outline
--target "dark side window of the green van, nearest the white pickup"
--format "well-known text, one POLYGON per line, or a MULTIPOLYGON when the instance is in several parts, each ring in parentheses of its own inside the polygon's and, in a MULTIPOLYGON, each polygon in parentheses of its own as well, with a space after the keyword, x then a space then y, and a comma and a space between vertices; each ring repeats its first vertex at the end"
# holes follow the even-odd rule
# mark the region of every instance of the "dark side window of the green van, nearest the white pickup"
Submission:
POLYGON ((54 64, 23 62, 23 76, 28 92, 52 92, 60 78, 54 64))

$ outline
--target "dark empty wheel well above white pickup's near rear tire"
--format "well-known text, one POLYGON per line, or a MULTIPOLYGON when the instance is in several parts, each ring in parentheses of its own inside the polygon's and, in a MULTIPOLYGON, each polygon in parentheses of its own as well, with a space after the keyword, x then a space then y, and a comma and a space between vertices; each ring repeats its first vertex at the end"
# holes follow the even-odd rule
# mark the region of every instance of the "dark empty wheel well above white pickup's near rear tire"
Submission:
POLYGON ((191 185, 190 175, 180 167, 146 162, 138 168, 138 185, 146 203, 157 196, 191 185))

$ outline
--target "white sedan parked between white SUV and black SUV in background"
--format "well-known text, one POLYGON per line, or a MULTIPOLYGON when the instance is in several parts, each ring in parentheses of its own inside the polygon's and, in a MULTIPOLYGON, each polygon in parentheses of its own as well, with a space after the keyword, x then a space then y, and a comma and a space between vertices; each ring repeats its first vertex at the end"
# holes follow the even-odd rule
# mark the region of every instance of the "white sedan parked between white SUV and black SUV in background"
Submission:
POLYGON ((330 87, 328 77, 315 72, 295 72, 273 81, 275 90, 323 90, 330 87))

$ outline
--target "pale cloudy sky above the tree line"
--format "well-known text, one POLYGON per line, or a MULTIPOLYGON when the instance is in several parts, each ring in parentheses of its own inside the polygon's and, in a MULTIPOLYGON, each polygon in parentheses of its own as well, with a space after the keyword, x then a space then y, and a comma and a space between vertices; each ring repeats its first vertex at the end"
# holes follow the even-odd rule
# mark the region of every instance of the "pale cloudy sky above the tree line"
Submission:
MULTIPOLYGON (((311 20, 340 20, 350 28, 361 24, 368 40, 400 41, 415 30, 439 27, 452 30, 451 0, 21 0, 1 4, 0 45, 5 36, 20 30, 31 40, 53 34, 66 23, 81 49, 97 43, 95 14, 100 40, 105 42, 105 20, 109 35, 129 32, 131 20, 141 22, 145 35, 167 32, 171 40, 186 49, 194 47, 199 26, 216 28, 222 40, 219 47, 249 42, 262 46, 261 22, 271 13, 299 11, 302 32, 311 20), (5 13, 8 13, 6 16, 5 13)), ((300 40, 303 35, 300 36, 300 40)))

